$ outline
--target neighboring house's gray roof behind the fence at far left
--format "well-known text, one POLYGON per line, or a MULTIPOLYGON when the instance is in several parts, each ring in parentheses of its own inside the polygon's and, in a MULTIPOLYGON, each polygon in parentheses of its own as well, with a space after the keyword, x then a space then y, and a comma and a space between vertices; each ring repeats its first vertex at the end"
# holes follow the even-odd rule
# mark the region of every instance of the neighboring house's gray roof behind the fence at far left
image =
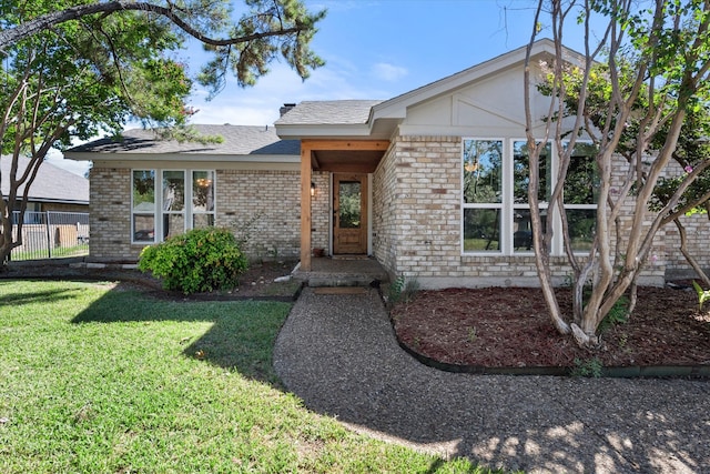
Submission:
MULTIPOLYGON (((30 160, 24 157, 18 159, 18 177, 27 170, 30 160)), ((12 157, 0 158, 0 188, 2 196, 7 198, 10 192, 10 168, 12 157)), ((20 186, 19 194, 24 191, 24 185, 20 186)), ((29 201, 38 202, 64 202, 70 204, 89 204, 89 180, 78 174, 71 173, 59 167, 54 167, 44 161, 37 172, 37 178, 29 189, 29 201)))

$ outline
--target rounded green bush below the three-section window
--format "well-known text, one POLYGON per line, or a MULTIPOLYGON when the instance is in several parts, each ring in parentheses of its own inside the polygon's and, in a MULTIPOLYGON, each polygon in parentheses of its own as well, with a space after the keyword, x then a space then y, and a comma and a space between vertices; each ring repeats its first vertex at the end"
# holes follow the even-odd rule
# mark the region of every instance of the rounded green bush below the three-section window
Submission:
POLYGON ((248 262, 231 231, 194 229, 141 251, 139 270, 152 272, 168 290, 185 294, 239 284, 248 262))

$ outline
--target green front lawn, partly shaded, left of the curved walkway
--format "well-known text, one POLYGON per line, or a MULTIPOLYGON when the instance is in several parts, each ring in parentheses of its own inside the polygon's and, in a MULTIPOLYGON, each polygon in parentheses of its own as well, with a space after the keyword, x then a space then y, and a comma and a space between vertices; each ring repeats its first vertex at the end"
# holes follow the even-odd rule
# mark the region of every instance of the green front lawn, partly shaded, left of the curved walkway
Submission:
POLYGON ((0 282, 0 472, 487 472, 305 410, 272 370, 288 311, 0 282))

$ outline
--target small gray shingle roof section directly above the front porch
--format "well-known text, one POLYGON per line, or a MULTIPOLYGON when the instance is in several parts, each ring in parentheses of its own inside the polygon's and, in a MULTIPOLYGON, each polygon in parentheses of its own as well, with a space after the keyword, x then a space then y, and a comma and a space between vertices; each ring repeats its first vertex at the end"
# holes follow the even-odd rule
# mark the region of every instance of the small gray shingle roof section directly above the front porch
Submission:
POLYGON ((276 125, 345 125, 367 123, 381 100, 304 101, 276 120, 276 125))

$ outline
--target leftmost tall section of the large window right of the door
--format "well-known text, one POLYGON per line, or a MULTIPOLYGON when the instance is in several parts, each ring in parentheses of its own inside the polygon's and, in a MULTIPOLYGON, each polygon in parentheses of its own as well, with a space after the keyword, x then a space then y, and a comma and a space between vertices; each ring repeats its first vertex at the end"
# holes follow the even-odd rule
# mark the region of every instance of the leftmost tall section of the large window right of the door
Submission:
POLYGON ((464 141, 464 252, 500 252, 503 140, 464 141))

